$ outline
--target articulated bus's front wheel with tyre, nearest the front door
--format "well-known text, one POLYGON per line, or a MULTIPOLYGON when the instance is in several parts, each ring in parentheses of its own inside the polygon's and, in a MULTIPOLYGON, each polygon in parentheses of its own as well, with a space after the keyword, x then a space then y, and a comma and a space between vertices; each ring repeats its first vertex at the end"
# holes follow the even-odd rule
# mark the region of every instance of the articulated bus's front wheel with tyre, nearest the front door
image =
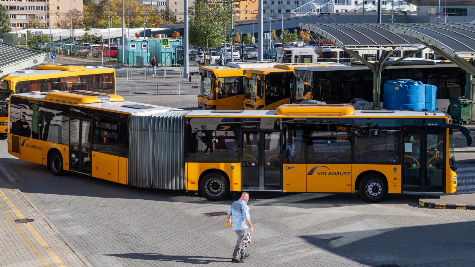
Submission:
POLYGON ((363 177, 358 191, 362 200, 375 203, 381 201, 388 194, 388 186, 383 177, 371 173, 363 177))

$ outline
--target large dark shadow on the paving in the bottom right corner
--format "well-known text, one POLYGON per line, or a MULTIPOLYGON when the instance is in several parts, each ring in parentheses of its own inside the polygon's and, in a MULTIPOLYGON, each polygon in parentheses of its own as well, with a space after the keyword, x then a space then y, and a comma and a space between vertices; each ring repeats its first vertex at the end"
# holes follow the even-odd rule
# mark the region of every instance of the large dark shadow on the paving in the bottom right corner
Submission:
MULTIPOLYGON (((408 221, 408 225, 410 223, 408 221)), ((475 222, 468 221, 300 238, 315 247, 363 265, 455 266, 457 263, 475 262, 474 227, 475 222)))

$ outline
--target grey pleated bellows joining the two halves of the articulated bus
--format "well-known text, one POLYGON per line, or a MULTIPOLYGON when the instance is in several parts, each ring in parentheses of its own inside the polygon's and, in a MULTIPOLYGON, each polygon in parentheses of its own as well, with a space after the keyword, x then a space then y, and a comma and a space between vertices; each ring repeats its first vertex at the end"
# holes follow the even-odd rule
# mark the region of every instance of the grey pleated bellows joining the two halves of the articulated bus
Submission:
POLYGON ((139 112, 130 116, 129 185, 184 190, 184 122, 189 111, 139 112))

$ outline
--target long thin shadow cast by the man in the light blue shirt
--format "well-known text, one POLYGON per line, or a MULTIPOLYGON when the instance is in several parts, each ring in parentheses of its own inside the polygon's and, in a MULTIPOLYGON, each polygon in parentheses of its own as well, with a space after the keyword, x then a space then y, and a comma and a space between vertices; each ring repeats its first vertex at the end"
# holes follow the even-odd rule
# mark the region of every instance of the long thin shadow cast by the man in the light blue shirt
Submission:
POLYGON ((163 255, 157 253, 122 253, 122 254, 104 254, 104 256, 123 257, 130 259, 146 259, 183 262, 189 264, 209 264, 212 262, 230 262, 230 258, 225 257, 205 257, 205 256, 180 256, 180 255, 163 255), (223 259, 223 260, 218 260, 223 259))

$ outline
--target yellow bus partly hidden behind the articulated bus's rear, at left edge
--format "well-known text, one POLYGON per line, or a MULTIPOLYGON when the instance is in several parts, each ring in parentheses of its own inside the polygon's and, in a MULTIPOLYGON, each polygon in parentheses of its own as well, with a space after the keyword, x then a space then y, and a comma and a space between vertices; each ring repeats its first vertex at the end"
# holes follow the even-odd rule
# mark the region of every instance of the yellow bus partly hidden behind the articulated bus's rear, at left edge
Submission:
POLYGON ((115 69, 93 66, 38 66, 11 73, 0 82, 0 133, 6 133, 8 99, 31 91, 87 90, 115 94, 115 69))

